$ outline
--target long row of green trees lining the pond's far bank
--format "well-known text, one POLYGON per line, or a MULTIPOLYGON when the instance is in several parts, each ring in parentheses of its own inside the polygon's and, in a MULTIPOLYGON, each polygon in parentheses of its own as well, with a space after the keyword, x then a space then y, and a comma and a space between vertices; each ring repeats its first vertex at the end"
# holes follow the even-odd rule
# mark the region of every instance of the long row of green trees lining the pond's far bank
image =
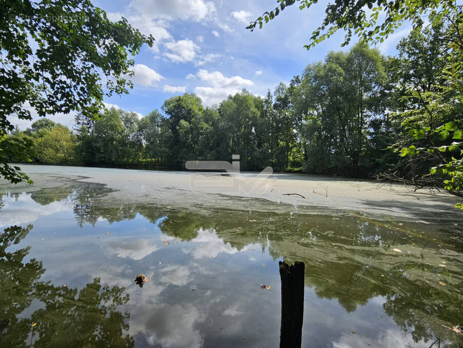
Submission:
POLYGON ((265 96, 244 89, 204 107, 185 93, 141 119, 111 108, 97 119, 78 114, 73 129, 40 119, 11 137, 32 141, 38 163, 182 168, 238 153, 242 170, 441 183, 445 172, 430 176, 430 168, 461 157, 452 148, 463 121, 463 54, 454 31, 443 20, 421 23, 396 56, 359 42, 265 96))

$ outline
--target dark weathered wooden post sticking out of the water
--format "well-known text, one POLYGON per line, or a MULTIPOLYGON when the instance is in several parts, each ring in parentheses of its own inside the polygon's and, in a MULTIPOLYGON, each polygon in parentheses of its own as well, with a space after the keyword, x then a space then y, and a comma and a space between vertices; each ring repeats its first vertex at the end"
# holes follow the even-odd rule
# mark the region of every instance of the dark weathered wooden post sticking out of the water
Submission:
POLYGON ((280 261, 281 279, 281 331, 280 348, 299 348, 304 319, 304 269, 303 262, 289 266, 280 261))

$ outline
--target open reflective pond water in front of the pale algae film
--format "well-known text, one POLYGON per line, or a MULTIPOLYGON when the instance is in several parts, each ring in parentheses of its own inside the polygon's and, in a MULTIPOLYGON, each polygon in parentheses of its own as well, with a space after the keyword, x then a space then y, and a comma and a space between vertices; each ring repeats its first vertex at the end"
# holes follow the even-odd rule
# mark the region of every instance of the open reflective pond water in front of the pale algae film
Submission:
POLYGON ((0 196, 0 346, 277 347, 282 260, 305 263, 304 347, 463 345, 463 220, 111 192, 0 196))

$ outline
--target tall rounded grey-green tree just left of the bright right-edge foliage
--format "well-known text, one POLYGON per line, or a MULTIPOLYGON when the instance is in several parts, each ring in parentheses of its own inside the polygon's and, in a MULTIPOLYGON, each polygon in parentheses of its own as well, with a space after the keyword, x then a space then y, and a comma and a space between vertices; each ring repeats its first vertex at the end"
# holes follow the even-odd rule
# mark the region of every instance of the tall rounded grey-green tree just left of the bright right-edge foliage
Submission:
POLYGON ((307 171, 361 176, 370 166, 369 128, 383 116, 378 99, 384 58, 366 44, 310 64, 296 88, 307 171))

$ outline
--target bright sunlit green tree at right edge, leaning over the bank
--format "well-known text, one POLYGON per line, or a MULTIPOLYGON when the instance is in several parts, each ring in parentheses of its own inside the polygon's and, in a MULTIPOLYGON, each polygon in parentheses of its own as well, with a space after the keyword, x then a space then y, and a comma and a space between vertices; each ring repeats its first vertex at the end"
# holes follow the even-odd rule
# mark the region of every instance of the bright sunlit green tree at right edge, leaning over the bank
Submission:
POLYGON ((398 45, 401 105, 391 115, 397 129, 391 147, 403 159, 383 176, 417 187, 444 184, 461 196, 463 46, 451 40, 458 36, 452 21, 436 18, 398 45))

